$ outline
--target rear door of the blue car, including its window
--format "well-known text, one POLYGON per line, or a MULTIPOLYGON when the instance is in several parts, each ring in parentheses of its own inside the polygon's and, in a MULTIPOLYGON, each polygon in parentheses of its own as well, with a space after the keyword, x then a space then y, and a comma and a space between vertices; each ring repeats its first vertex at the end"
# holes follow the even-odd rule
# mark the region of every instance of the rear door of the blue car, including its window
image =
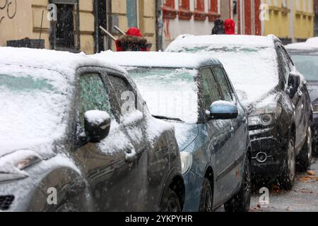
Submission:
POLYGON ((247 150, 247 117, 245 111, 237 102, 234 90, 228 76, 226 75, 224 69, 220 66, 213 67, 213 73, 216 76, 218 83, 220 85, 220 90, 223 93, 223 100, 232 102, 237 106, 238 117, 236 119, 231 119, 231 136, 232 136, 232 151, 234 154, 233 167, 233 187, 232 191, 235 191, 240 182, 242 182, 242 172, 244 168, 245 153, 247 150))

